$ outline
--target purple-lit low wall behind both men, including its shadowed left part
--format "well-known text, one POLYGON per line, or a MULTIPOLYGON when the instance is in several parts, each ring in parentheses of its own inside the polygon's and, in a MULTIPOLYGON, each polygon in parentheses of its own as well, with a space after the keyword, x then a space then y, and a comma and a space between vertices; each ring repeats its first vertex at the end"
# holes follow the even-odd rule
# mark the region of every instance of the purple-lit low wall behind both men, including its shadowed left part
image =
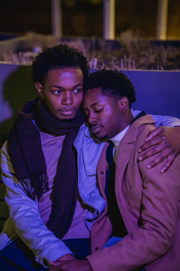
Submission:
MULTIPOLYGON (((19 108, 38 96, 30 66, 0 63, 0 147, 19 108)), ((90 72, 95 70, 91 69, 90 72)), ((180 71, 124 70, 132 81, 137 101, 133 109, 180 118, 180 71)))

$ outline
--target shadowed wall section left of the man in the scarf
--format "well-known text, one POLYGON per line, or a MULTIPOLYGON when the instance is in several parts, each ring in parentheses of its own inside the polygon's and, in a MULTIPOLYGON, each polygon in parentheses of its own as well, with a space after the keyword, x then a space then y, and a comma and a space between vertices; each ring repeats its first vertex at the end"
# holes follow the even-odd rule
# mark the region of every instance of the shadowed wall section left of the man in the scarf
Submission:
POLYGON ((19 109, 26 101, 38 96, 30 75, 31 66, 3 64, 0 66, 0 146, 7 139, 19 109))

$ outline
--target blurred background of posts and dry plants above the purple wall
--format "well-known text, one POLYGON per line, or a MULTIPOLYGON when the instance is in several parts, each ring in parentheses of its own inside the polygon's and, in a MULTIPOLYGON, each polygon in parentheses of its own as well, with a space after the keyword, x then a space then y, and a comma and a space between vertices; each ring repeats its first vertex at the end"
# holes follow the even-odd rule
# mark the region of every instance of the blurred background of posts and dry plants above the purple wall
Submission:
POLYGON ((90 68, 180 70, 179 0, 1 1, 0 61, 31 64, 59 43, 90 68))

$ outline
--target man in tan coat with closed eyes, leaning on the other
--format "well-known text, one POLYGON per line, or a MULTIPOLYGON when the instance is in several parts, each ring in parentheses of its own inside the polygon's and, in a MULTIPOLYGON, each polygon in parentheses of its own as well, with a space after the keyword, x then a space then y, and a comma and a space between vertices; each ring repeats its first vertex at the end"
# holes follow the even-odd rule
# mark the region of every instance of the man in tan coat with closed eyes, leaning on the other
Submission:
POLYGON ((163 174, 162 165, 148 170, 147 161, 138 160, 137 150, 155 127, 143 111, 133 117, 134 101, 134 87, 123 73, 103 69, 89 76, 83 110, 97 138, 110 139, 97 165, 108 208, 94 222, 91 241, 113 236, 114 244, 97 247, 86 261, 67 261, 52 270, 179 270, 180 156, 163 174))

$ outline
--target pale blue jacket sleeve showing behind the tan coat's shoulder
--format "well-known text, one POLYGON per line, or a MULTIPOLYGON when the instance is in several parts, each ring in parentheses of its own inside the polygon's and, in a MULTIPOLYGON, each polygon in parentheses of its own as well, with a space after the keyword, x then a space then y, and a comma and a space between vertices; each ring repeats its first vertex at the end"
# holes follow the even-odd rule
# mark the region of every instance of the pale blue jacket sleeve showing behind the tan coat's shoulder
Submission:
MULTIPOLYGON (((141 113, 141 111, 131 109, 131 113, 133 114, 134 117, 136 117, 139 113, 141 113)), ((148 113, 148 114, 151 114, 151 113, 148 113)), ((180 120, 175 117, 161 116, 161 115, 152 115, 152 117, 155 120, 156 127, 158 127, 158 126, 167 126, 167 127, 180 126, 180 120)))

